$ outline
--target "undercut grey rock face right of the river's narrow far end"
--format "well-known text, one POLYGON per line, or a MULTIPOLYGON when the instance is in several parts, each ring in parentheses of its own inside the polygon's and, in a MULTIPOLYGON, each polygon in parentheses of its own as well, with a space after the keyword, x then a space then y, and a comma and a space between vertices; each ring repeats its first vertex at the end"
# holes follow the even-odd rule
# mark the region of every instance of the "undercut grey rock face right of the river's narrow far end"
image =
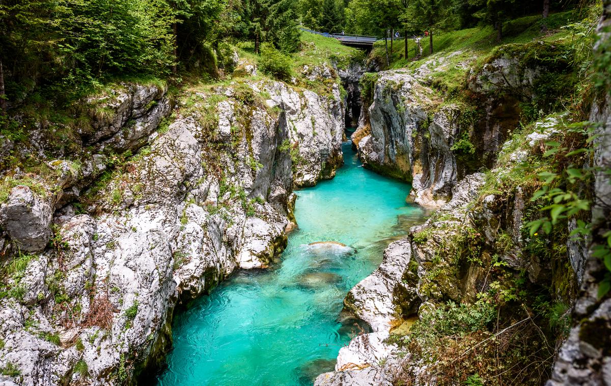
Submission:
POLYGON ((465 92, 477 105, 449 102, 431 87, 431 73, 444 71, 460 54, 437 54, 414 70, 379 72, 352 136, 365 166, 411 182, 411 200, 425 206, 444 205, 459 180, 494 166, 518 126, 521 98, 535 98, 534 85, 546 71, 509 45, 482 67, 458 65, 470 68, 465 92))

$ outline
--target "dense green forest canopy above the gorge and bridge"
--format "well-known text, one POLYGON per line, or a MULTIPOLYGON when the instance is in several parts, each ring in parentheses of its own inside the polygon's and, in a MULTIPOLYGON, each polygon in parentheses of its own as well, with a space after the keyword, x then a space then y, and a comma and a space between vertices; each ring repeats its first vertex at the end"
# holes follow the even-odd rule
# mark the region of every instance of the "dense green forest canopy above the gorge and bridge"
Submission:
MULTIPOLYGON (((2 0, 0 104, 73 98, 117 76, 218 76, 228 43, 299 50, 299 27, 384 37, 489 25, 578 4, 550 0, 2 0)), ((542 25, 542 28, 545 26, 542 25)), ((268 49, 269 51, 269 49, 268 49)))

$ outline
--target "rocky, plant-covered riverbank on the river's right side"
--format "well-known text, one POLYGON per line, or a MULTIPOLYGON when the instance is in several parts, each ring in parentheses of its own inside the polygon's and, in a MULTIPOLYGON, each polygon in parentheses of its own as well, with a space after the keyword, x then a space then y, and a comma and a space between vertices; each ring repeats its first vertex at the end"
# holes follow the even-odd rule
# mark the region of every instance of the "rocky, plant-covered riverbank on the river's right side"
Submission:
MULTIPOLYGON (((609 49, 604 26, 611 5, 605 4, 598 55, 609 49)), ((532 44, 546 52, 557 49, 532 44)), ((545 352, 538 360, 554 362, 553 373, 546 376, 549 385, 611 382, 608 349, 593 338, 610 330, 609 296, 601 297, 599 291, 606 269, 591 256, 609 229, 603 218, 609 208, 606 175, 599 172, 595 184, 580 185, 595 197, 591 214, 583 214, 584 219, 591 215, 598 229, 593 245, 568 236, 577 228, 576 220, 558 225, 555 239, 539 239, 549 233, 543 228, 529 234, 529 220, 538 218, 543 205, 533 198, 541 183, 525 178, 525 165, 543 155, 541 162, 550 163, 542 170, 555 167, 545 159, 546 151, 556 141, 566 144, 569 117, 577 115, 551 114, 518 127, 525 101, 538 98, 541 82, 554 71, 557 76, 568 71, 562 64, 546 68, 533 62, 531 48, 500 47, 482 65, 458 62, 468 74, 461 87, 478 101, 477 111, 434 87, 431 74, 450 62, 456 65, 452 57, 461 57, 460 52, 362 80, 370 99, 352 139, 365 166, 413 181, 412 200, 441 208, 425 224, 412 227, 407 238, 390 244, 378 270, 346 296, 345 310, 373 332, 342 348, 335 371, 318 376, 315 385, 443 384, 467 376, 475 382, 515 366, 527 369, 535 349, 545 352), (481 168, 490 170, 474 173, 486 170, 481 168), (543 295, 541 288, 549 288, 549 294, 543 295), (516 345, 512 340, 518 336, 529 343, 516 345), (509 348, 519 354, 499 354, 509 348), (504 355, 498 371, 491 370, 499 366, 494 359, 486 362, 490 351, 497 352, 497 360, 504 355), (474 373, 479 375, 474 378, 474 373)), ((611 137, 608 90, 602 95, 587 107, 591 112, 586 118, 601 123, 596 125, 593 162, 605 170, 611 137)))

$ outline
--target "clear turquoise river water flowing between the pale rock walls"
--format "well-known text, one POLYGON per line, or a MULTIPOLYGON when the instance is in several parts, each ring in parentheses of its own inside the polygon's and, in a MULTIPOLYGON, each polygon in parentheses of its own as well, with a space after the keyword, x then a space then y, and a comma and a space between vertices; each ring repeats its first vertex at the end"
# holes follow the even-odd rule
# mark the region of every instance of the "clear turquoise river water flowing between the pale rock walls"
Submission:
POLYGON ((241 271, 177 315, 159 385, 312 385, 354 336, 340 322, 349 289, 374 271, 392 239, 422 222, 408 184, 360 166, 349 142, 334 180, 298 191, 299 230, 268 271, 241 271), (356 249, 307 246, 337 241, 356 249))

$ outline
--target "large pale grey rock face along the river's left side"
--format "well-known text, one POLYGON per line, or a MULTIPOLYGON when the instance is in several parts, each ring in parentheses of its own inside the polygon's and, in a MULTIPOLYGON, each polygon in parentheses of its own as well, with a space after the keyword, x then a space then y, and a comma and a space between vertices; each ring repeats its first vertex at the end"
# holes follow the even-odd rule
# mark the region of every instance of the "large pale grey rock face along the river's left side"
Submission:
POLYGON ((2 204, 12 243, 40 252, 15 263, 18 290, 0 299, 0 368, 20 372, 14 381, 124 384, 150 372, 177 304, 237 268, 268 266, 286 246, 293 186, 331 178, 342 162, 337 84, 331 96, 271 81, 194 93, 153 133, 169 111, 164 92, 126 85, 96 101, 104 114, 83 137, 100 154, 57 183, 62 200, 17 186, 2 204), (76 215, 69 202, 109 167, 104 150, 147 143, 87 193, 95 216, 76 215))

